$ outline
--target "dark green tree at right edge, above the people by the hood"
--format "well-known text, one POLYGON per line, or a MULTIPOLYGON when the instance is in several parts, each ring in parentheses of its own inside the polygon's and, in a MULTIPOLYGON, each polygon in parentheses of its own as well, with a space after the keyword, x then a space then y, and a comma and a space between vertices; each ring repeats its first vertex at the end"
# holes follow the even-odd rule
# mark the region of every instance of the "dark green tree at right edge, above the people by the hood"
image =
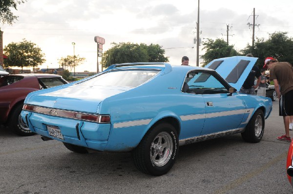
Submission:
POLYGON ((274 32, 268 40, 257 38, 254 47, 247 45, 241 50, 242 54, 251 53, 253 57, 259 58, 256 64, 259 68, 264 65, 267 57, 277 58, 279 61, 286 61, 293 64, 293 39, 287 36, 287 32, 274 32))

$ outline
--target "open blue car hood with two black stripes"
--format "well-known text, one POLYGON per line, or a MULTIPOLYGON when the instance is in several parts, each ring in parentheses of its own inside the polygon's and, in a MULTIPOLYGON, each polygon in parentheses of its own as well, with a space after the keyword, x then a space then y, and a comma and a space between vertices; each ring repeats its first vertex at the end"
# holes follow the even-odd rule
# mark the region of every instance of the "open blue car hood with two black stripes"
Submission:
POLYGON ((218 58, 209 62, 205 67, 215 70, 239 91, 257 59, 244 56, 218 58))

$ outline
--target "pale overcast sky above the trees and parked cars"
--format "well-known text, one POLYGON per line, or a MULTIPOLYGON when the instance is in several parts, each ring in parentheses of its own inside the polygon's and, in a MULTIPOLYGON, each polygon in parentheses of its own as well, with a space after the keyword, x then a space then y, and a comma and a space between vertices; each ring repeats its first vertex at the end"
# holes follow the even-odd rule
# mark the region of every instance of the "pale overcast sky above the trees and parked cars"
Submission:
MULTIPOLYGON (((238 51, 251 45, 253 8, 255 37, 268 39, 276 31, 293 37, 292 1, 200 0, 201 40, 226 41, 229 25, 230 45, 238 51)), ((76 72, 97 71, 95 36, 105 39, 104 51, 112 42, 153 43, 166 49, 169 63, 180 65, 186 55, 196 66, 197 10, 197 0, 27 0, 14 11, 18 21, 0 28, 4 47, 22 39, 36 43, 46 58, 41 68, 59 67, 59 58, 73 55, 75 42, 75 54, 86 58, 76 72)))

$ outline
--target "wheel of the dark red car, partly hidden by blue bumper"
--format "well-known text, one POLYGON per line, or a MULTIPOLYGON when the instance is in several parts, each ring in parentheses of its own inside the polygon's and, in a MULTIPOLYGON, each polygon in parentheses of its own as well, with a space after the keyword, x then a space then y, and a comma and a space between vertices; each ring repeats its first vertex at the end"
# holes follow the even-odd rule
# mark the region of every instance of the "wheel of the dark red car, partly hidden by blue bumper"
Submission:
POLYGON ((9 118, 8 127, 17 135, 20 136, 32 136, 35 135, 28 126, 23 122, 21 118, 23 104, 18 104, 13 108, 9 118))

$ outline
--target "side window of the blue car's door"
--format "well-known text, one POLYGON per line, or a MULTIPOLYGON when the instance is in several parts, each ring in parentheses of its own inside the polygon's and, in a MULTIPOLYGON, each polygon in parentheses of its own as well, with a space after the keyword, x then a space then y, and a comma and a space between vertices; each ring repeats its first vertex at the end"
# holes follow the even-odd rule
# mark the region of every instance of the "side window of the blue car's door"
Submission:
POLYGON ((188 93, 195 94, 220 94, 229 93, 227 88, 209 72, 189 72, 185 78, 188 93), (192 92, 190 92, 192 91, 192 92))

